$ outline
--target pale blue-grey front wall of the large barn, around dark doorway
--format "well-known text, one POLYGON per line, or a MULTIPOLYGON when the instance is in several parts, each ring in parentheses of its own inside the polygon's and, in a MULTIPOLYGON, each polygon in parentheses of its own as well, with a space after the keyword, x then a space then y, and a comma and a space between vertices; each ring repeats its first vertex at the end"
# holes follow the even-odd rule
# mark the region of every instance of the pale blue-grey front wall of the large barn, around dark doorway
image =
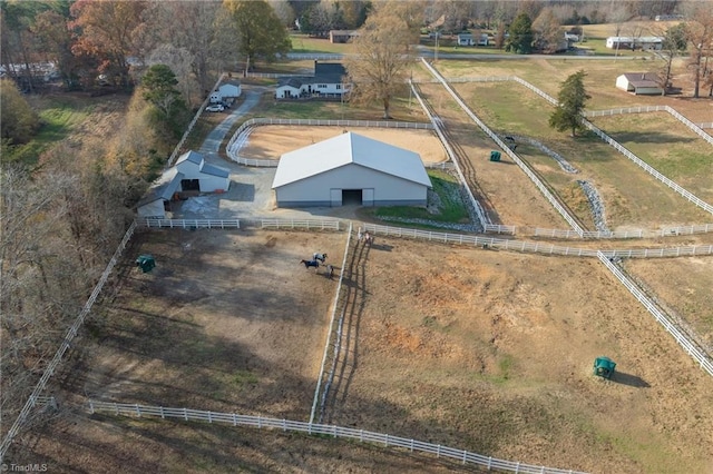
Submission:
POLYGON ((277 205, 329 206, 333 189, 373 188, 374 205, 426 204, 428 188, 358 165, 349 165, 275 189, 277 205))

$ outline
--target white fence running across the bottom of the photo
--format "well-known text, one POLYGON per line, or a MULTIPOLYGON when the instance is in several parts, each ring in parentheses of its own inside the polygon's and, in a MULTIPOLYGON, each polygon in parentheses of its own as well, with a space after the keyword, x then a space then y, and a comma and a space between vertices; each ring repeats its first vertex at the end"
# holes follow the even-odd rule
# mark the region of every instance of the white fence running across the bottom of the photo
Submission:
POLYGON ((440 444, 424 443, 421 441, 374 433, 365 429, 346 428, 335 425, 322 425, 314 423, 294 422, 291 419, 266 418, 262 416, 237 415, 235 413, 206 412, 202 409, 167 408, 163 406, 131 405, 107 402, 89 401, 90 413, 114 414, 116 416, 149 416, 162 419, 174 418, 182 421, 196 421, 219 423, 232 426, 248 426, 265 429, 280 429, 283 432, 307 433, 310 435, 323 435, 356 440, 361 443, 373 443, 384 447, 399 447, 409 452, 434 454, 437 457, 448 457, 461 464, 476 464, 488 470, 515 472, 522 474, 580 474, 575 471, 558 470, 553 467, 536 466, 530 464, 504 461, 465 450, 455 450, 440 444))

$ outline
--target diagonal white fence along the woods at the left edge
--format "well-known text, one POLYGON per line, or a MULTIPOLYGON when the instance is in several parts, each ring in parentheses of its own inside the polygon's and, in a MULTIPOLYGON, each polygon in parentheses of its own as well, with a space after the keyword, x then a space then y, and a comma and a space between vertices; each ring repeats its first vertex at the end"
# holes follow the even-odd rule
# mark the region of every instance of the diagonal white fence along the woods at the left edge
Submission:
POLYGON ((55 357, 52 357, 50 363, 47 365, 47 368, 45 368, 45 372, 42 373, 40 381, 35 386, 35 389, 32 389, 32 393, 30 394, 27 402, 25 403, 25 406, 20 411, 20 414, 16 418, 14 423, 12 423, 12 426, 10 426, 10 429, 8 431, 8 434, 4 436, 4 440, 2 440, 2 444, 0 445, 0 461, 4 457, 4 454, 8 451, 8 447, 10 447, 10 444, 12 443, 12 440, 20 431, 20 427, 27 421, 28 414, 32 411, 32 408, 38 403, 38 401, 46 399, 45 397, 40 398, 40 394, 47 386, 47 382, 49 381, 49 378, 52 375, 55 375, 55 371, 57 369, 57 366, 59 365, 59 363, 62 361, 62 357, 65 356, 65 353, 67 352, 67 349, 69 349, 72 339, 77 337, 77 333, 79 333, 79 328, 81 327, 81 325, 85 322, 85 318, 91 310, 91 306, 99 297, 99 294, 101 293, 101 288, 107 283, 107 279, 109 278, 109 275, 114 269, 114 266, 117 264, 117 261, 119 261, 119 257, 124 253, 124 249, 126 248, 126 245, 128 244, 128 241, 131 239, 131 236, 134 235, 135 229, 136 229, 136 223, 131 224, 128 230, 126 231, 126 234, 124 235, 124 238, 119 243, 119 246, 114 253, 114 256, 111 257, 111 259, 109 260, 109 264, 107 265, 106 269, 101 274, 99 282, 94 287, 94 290, 89 296, 89 299, 87 299, 87 303, 85 304, 84 308, 81 308, 81 312, 75 319, 75 323, 67 330, 67 334, 65 335, 65 339, 62 340, 59 348, 55 353, 55 357))

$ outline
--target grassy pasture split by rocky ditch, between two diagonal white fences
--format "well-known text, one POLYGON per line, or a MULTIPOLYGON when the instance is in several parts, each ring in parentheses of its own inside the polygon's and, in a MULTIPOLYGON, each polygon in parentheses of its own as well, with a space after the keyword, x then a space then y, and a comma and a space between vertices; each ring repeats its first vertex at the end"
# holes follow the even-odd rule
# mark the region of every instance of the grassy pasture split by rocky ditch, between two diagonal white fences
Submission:
MULTIPOLYGON (((697 208, 677 192, 654 179, 634 162, 603 142, 594 135, 576 140, 558 134, 547 125, 551 106, 526 88, 508 82, 456 83, 463 100, 499 135, 533 137, 565 157, 579 174, 569 175, 557 162, 537 151, 531 156, 533 166, 555 187, 557 194, 568 200, 572 209, 586 214, 577 195, 572 194, 572 182, 588 180, 597 189, 605 204, 607 226, 656 229, 662 225, 692 225, 707 223, 710 213, 697 208), (515 90, 518 93, 515 93, 515 90)), ((687 130, 687 129, 685 129, 687 130)), ((670 140, 678 137, 671 131, 670 140)), ((682 132, 685 140, 691 132, 682 132)), ((701 140, 702 146, 706 144, 701 140)), ((675 148, 672 142, 668 148, 675 148)), ((518 147, 517 152, 520 151, 518 147)), ((522 158, 529 147, 522 147, 522 158)), ((584 219, 584 216, 583 216, 584 219)), ((508 223, 510 224, 510 223, 508 223)))

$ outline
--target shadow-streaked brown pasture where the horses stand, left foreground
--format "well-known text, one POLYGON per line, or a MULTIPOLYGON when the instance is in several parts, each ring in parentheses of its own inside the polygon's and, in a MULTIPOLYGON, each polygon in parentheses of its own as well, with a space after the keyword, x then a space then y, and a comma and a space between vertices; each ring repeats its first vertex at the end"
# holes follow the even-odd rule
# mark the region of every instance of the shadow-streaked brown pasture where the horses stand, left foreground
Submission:
POLYGON ((343 254, 343 234, 144 230, 121 287, 90 323, 77 394, 309 416, 334 282, 300 259, 343 254), (157 266, 133 265, 150 254, 157 266))

